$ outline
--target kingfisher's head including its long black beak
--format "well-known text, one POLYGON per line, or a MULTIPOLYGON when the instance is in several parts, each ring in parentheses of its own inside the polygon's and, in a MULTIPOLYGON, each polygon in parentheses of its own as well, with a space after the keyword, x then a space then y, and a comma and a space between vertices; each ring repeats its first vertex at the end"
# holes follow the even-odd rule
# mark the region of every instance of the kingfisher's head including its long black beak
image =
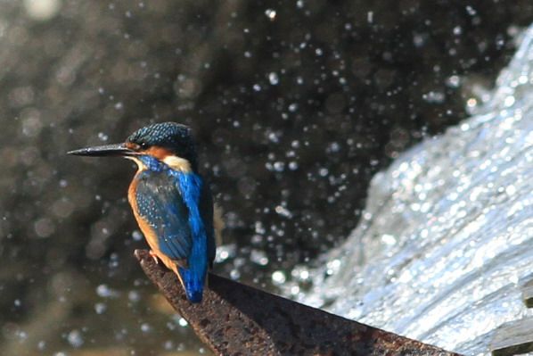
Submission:
POLYGON ((196 171, 198 153, 191 129, 176 122, 163 122, 139 128, 124 144, 101 145, 70 151, 82 156, 122 156, 143 166, 143 156, 151 156, 174 170, 196 171))

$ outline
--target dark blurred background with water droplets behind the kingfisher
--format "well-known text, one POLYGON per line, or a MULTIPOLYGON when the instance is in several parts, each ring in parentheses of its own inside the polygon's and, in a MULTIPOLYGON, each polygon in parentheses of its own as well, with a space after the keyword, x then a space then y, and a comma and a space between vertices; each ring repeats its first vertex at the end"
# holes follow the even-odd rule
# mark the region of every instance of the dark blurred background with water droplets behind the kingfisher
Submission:
POLYGON ((0 354, 206 352, 133 257, 132 163, 66 151, 190 125, 225 211, 215 272, 272 290, 532 20, 530 0, 1 0, 0 354))

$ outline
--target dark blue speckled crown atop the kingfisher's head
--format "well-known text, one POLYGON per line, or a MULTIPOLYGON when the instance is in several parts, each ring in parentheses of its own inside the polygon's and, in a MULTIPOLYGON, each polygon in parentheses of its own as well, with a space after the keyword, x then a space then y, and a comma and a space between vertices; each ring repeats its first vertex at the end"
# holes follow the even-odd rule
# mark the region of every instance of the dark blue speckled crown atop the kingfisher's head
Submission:
POLYGON ((198 153, 191 136, 191 129, 176 122, 163 122, 139 128, 126 142, 142 147, 157 146, 165 148, 191 162, 193 170, 198 168, 198 153))

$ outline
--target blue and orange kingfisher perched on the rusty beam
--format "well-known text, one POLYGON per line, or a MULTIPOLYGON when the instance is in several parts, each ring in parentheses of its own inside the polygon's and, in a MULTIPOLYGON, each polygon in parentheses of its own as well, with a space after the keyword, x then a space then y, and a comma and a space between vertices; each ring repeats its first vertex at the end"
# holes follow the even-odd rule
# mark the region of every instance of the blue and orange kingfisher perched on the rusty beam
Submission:
POLYGON ((190 302, 201 302, 222 222, 209 185, 198 172, 191 129, 176 122, 157 123, 139 128, 123 144, 69 153, 135 161, 138 170, 127 200, 150 253, 176 273, 190 302))

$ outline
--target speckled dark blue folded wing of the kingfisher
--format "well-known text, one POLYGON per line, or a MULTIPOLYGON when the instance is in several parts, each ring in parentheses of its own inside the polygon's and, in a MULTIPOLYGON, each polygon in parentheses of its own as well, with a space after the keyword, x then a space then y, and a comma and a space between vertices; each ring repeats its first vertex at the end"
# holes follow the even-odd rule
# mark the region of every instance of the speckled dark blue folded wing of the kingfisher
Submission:
POLYGON ((135 197, 137 210, 152 226, 161 253, 179 266, 188 268, 193 248, 189 209, 178 190, 176 178, 164 172, 138 176, 135 197))

